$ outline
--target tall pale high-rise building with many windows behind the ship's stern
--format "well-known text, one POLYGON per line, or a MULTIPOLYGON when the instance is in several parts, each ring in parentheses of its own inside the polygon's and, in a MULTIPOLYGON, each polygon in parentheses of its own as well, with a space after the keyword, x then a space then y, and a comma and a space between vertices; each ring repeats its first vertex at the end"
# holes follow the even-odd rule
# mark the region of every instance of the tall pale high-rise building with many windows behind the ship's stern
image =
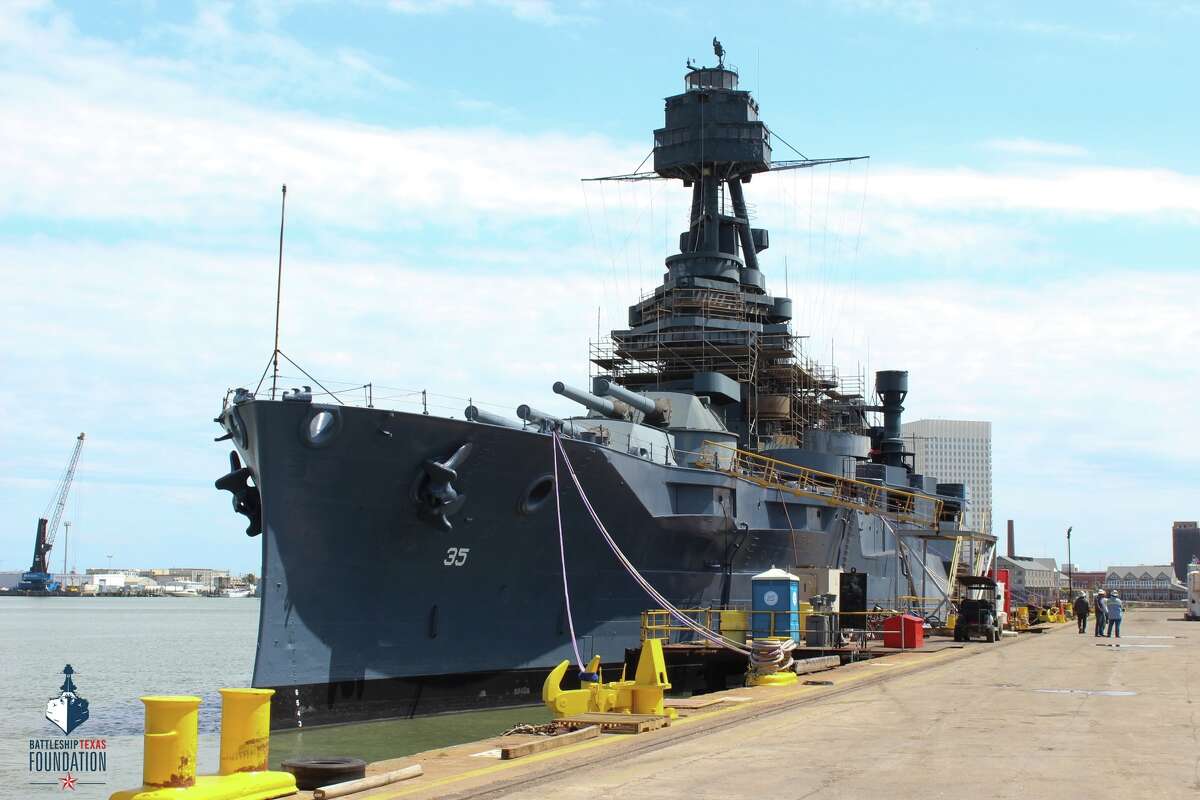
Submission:
POLYGON ((901 426, 914 467, 942 483, 966 483, 965 528, 991 533, 991 422, 917 420, 901 426))

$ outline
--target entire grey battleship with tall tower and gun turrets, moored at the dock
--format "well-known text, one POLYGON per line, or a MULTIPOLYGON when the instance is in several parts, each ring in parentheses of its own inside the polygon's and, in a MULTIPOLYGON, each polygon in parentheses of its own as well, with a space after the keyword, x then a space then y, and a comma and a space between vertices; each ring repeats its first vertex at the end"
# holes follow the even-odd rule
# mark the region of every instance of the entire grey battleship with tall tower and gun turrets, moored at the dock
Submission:
POLYGON ((679 181, 691 205, 662 283, 590 343, 592 385, 547 375, 577 415, 449 419, 262 380, 226 393, 216 486, 262 537, 253 685, 276 690, 276 727, 536 703, 572 627, 584 660, 638 646, 654 603, 556 487, 556 437, 616 545, 680 608, 744 603, 772 567, 865 576, 860 603, 946 591, 967 497, 912 469, 907 373, 877 373, 868 396, 803 355, 748 211, 755 175, 850 160, 773 161, 714 46, 716 66, 689 61, 666 98, 653 170, 605 179, 679 181))

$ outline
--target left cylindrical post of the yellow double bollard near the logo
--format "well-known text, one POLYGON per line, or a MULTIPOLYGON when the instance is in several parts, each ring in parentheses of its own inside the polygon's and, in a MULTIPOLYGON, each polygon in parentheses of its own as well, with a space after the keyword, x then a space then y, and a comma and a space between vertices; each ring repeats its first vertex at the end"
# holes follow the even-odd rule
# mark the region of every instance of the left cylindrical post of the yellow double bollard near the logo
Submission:
POLYGON ((196 784, 200 698, 143 697, 146 706, 142 783, 180 789, 196 784))

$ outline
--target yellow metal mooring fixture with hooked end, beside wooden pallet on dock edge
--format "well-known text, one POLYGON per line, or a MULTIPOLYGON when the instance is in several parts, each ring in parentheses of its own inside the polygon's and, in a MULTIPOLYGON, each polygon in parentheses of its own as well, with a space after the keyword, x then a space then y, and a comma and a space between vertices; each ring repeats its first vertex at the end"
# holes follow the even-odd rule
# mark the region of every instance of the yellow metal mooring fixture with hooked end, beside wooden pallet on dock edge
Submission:
MULTIPOLYGON (((587 712, 617 712, 617 714, 654 714, 658 716, 670 716, 674 718, 674 709, 665 709, 662 699, 666 690, 671 688, 667 682, 666 658, 662 656, 662 642, 660 639, 646 639, 642 642, 642 652, 637 657, 637 672, 634 680, 625 680, 622 670, 622 680, 605 684, 601 679, 595 681, 583 681, 586 686, 581 688, 563 688, 563 676, 570 668, 570 661, 563 661, 541 686, 541 702, 546 704, 556 718, 577 716, 587 712)), ((600 656, 593 656, 588 662, 587 672, 600 675, 600 656)))

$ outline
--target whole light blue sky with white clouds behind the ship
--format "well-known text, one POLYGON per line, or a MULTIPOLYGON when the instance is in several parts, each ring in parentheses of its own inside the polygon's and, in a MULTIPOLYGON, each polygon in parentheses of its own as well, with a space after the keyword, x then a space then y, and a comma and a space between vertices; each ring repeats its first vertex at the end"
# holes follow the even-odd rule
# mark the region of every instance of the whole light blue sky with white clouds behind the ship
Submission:
POLYGON ((990 420, 1022 554, 1070 525, 1080 569, 1166 563, 1200 517, 1198 34, 1166 1, 5 2, 0 571, 84 431, 70 565, 257 572, 212 417, 271 354, 282 184, 308 373, 576 411, 551 384, 688 200, 580 179, 637 168, 714 35, 776 158, 870 156, 746 187, 805 351, 990 420))

